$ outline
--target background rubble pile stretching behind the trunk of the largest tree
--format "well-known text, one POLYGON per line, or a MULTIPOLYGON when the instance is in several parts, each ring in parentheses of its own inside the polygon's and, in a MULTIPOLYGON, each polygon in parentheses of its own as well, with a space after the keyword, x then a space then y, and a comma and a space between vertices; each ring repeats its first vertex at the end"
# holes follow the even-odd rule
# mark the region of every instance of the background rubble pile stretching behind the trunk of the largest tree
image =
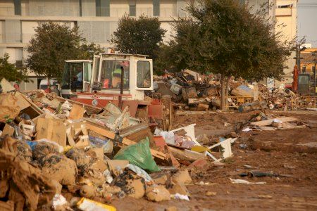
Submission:
MULTIPOLYGON (((199 75, 191 70, 166 73, 154 77, 154 91, 149 96, 171 98, 181 110, 217 110, 220 108, 220 75, 199 75)), ((297 110, 317 107, 316 97, 307 98, 294 94, 281 84, 268 89, 263 84, 249 84, 244 79, 230 78, 227 108, 242 111, 269 108, 271 110, 297 110)))

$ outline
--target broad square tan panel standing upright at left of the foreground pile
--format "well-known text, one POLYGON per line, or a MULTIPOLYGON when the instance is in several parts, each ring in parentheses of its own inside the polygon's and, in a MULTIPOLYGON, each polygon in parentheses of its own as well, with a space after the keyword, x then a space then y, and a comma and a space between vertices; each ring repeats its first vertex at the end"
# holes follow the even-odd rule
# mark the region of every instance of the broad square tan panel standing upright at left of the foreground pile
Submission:
POLYGON ((48 139, 66 146, 66 126, 63 120, 39 118, 36 139, 48 139))

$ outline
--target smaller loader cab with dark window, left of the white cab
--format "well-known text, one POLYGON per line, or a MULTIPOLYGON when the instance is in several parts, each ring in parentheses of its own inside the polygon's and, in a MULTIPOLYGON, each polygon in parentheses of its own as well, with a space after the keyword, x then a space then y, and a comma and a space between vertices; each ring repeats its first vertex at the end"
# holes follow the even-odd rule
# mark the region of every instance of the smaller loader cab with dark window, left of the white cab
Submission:
POLYGON ((64 98, 76 96, 76 92, 89 92, 92 83, 92 60, 66 60, 61 82, 64 98))

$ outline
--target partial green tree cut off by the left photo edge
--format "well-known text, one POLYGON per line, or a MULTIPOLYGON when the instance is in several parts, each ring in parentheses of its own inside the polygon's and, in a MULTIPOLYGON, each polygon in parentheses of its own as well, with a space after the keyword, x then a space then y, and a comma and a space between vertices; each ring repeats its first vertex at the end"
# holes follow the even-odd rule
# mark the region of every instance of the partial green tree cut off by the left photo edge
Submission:
POLYGON ((25 68, 16 68, 12 63, 8 62, 8 53, 0 58, 0 80, 4 77, 9 82, 27 82, 27 70, 25 68))

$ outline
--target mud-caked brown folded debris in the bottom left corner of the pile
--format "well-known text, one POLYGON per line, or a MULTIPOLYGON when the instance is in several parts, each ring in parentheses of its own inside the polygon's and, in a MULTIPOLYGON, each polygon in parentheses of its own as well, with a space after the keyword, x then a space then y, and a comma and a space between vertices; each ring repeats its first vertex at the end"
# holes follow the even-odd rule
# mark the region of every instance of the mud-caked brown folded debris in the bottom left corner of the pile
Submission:
POLYGON ((4 193, 15 204, 15 210, 37 210, 48 204, 61 185, 14 153, 0 149, 1 196, 4 193))

